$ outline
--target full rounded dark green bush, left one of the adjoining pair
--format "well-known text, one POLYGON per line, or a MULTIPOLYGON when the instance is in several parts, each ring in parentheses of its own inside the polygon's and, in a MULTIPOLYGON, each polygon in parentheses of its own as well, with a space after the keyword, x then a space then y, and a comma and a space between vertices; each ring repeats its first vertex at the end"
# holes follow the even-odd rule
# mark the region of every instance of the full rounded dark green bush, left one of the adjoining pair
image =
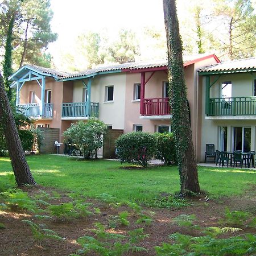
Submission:
POLYGON ((115 143, 121 162, 139 163, 143 167, 148 166, 156 150, 156 137, 142 131, 123 134, 115 143))

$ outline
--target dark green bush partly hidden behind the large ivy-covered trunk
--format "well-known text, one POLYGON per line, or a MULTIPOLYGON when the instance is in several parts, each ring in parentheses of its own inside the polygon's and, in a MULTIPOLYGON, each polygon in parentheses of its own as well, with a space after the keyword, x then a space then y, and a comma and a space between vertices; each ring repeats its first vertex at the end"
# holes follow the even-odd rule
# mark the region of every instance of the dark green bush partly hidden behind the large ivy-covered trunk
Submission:
POLYGON ((167 165, 176 163, 176 150, 174 134, 156 133, 156 159, 161 160, 167 165))

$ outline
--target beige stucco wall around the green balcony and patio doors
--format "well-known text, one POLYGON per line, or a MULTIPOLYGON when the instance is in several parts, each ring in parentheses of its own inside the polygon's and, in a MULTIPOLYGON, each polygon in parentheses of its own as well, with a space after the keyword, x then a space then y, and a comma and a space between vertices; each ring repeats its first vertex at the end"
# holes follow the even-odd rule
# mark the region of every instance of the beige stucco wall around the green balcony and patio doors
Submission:
MULTIPOLYGON (((214 77, 211 77, 211 81, 214 81, 214 77)), ((232 81, 232 97, 242 97, 242 96, 253 96, 253 86, 254 86, 255 73, 252 76, 250 73, 233 73, 228 75, 222 75, 216 81, 210 92, 210 97, 219 97, 220 86, 222 82, 232 81), (215 94, 213 93, 215 92, 215 94)), ((227 139, 227 150, 233 151, 233 137, 234 137, 234 127, 251 127, 251 150, 255 150, 255 126, 256 119, 241 119, 241 117, 234 117, 236 119, 217 119, 209 120, 205 119, 205 77, 200 77, 200 85, 202 86, 202 108, 201 108, 201 153, 200 160, 204 160, 205 144, 213 143, 216 150, 220 149, 220 134, 219 130, 221 126, 228 127, 228 139, 227 139)))

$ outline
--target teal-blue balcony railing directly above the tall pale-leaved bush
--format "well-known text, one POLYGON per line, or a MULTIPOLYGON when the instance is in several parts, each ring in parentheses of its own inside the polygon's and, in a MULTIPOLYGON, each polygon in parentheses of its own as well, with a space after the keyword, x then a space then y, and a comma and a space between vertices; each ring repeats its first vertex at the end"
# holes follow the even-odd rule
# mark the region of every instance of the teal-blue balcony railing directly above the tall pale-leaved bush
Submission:
POLYGON ((88 119, 98 117, 98 103, 90 102, 90 109, 86 111, 86 102, 63 103, 62 119, 88 119))

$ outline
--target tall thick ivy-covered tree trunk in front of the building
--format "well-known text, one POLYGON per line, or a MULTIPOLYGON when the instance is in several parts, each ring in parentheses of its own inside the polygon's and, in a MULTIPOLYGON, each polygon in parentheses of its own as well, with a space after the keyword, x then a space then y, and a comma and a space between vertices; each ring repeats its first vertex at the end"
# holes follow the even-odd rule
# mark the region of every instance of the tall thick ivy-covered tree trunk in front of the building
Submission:
POLYGON ((187 86, 184 79, 182 44, 175 0, 163 0, 163 9, 168 48, 169 96, 180 175, 180 192, 182 195, 190 195, 191 192, 200 192, 200 187, 192 131, 189 125, 187 86))

